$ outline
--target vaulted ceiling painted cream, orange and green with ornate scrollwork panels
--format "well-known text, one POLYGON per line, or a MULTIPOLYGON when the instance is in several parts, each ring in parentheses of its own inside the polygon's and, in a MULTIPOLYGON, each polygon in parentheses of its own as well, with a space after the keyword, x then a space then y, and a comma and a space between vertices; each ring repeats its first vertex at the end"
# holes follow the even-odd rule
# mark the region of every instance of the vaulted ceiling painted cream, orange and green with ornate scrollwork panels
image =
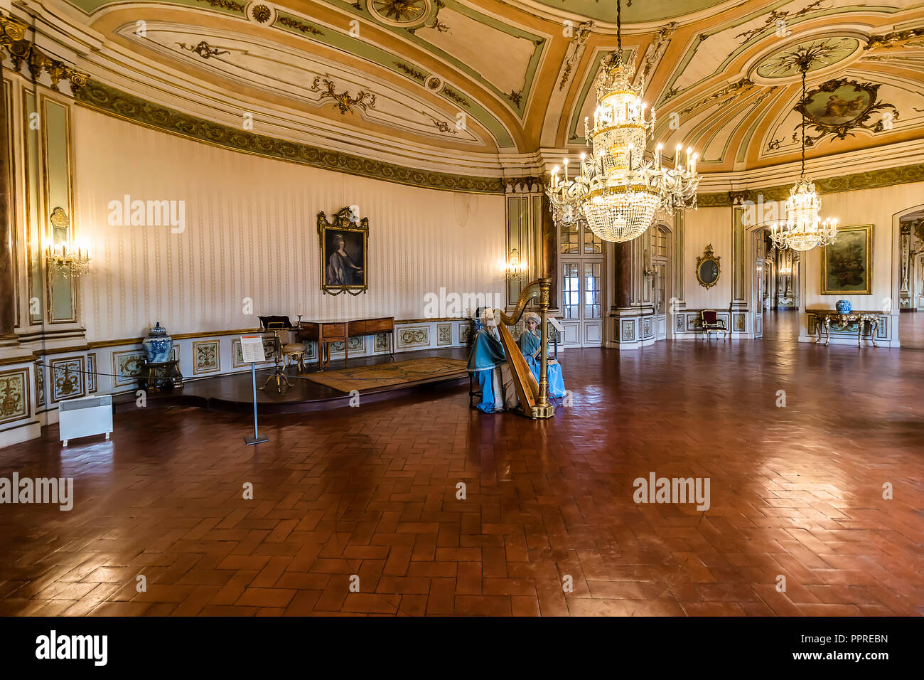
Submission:
MULTIPOLYGON (((616 43, 597 0, 50 2, 164 92, 476 160, 583 150, 616 43)), ((809 158, 924 137, 920 0, 624 0, 622 19, 657 139, 703 172, 793 161, 803 130, 809 158)))

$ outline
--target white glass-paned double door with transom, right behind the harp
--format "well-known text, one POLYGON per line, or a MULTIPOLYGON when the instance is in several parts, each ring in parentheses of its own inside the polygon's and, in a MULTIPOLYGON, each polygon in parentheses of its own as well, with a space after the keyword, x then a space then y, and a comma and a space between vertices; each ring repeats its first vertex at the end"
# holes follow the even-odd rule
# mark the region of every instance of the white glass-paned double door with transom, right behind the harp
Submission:
POLYGON ((564 347, 603 343, 603 244, 590 229, 561 225, 561 316, 564 347))

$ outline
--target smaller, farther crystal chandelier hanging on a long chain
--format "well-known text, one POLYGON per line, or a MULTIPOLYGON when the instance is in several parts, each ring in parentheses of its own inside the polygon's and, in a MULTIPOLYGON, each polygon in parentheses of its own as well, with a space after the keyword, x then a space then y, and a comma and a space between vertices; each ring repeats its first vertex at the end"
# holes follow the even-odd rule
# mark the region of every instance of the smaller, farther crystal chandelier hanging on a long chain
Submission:
MULTIPOLYGON (((811 57, 798 62, 802 71, 802 102, 806 101, 806 73, 811 66, 811 57)), ((803 104, 804 107, 804 104, 803 104)), ((770 236, 779 248, 794 251, 809 251, 817 245, 828 245, 837 236, 837 220, 821 221, 821 199, 815 191, 815 183, 806 177, 806 127, 805 111, 802 112, 802 171, 796 186, 789 190, 786 199, 786 222, 773 225, 770 236)))

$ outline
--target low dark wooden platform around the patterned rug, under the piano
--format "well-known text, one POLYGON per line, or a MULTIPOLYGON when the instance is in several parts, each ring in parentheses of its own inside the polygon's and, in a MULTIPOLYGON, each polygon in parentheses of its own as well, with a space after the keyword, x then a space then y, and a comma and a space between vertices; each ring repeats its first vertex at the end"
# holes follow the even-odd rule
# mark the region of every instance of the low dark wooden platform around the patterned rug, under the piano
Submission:
MULTIPOLYGON (((456 359, 466 361, 468 350, 456 347, 446 350, 426 350, 422 352, 401 352, 394 357, 369 356, 331 362, 320 374, 323 377, 334 376, 334 372, 343 368, 359 366, 399 364, 408 361, 419 361, 427 358, 456 359)), ((314 382, 307 377, 319 375, 317 364, 307 367, 300 376, 297 367, 289 365, 286 376, 292 387, 283 392, 277 392, 274 385, 265 390, 259 389, 267 377, 273 374, 272 365, 257 369, 257 412, 260 414, 295 414, 311 411, 324 411, 327 409, 348 406, 350 395, 348 392, 327 387, 314 382)), ((380 382, 380 380, 371 380, 380 382)), ((379 402, 387 399, 398 399, 410 394, 433 390, 461 390, 468 387, 468 374, 457 373, 450 376, 432 377, 428 379, 401 382, 396 385, 359 389, 362 402, 379 402)), ((232 412, 252 412, 253 390, 250 372, 235 373, 225 376, 205 377, 198 380, 188 380, 183 389, 173 393, 150 394, 147 397, 147 406, 200 406, 201 408, 217 409, 232 412)), ((116 413, 125 413, 138 408, 135 392, 117 395, 113 399, 116 413)))

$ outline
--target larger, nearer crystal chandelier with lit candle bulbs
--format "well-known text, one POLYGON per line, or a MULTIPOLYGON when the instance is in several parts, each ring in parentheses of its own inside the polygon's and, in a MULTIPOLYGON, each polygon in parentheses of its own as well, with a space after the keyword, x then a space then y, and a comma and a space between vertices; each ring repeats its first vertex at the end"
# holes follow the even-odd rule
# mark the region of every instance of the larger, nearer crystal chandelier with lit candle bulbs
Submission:
POLYGON ((683 145, 675 148, 674 167, 661 166, 662 144, 654 155, 646 155, 647 141, 654 131, 654 108, 646 118, 648 105, 641 100, 644 78, 632 85, 635 66, 622 61, 622 6, 616 0, 616 51, 601 62, 596 80, 597 108, 593 129, 584 119, 585 139, 593 154, 580 156, 580 174, 564 178, 558 167, 552 171, 546 194, 556 220, 565 223, 586 220, 590 230, 603 241, 631 241, 651 225, 658 209, 696 208, 698 155, 687 148, 687 163, 681 165, 683 145))

